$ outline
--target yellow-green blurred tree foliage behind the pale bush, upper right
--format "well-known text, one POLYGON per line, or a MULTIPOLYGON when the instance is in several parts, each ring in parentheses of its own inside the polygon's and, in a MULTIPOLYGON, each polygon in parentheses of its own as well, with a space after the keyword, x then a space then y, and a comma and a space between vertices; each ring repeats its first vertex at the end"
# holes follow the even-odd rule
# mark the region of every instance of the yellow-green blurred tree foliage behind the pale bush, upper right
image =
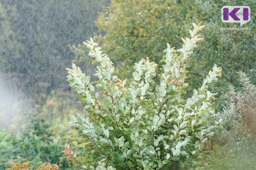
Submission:
MULTIPOLYGON (((156 64, 160 64, 163 56, 162 47, 166 43, 180 46, 178 37, 185 37, 189 23, 203 21, 207 25, 202 36, 206 41, 191 57, 188 70, 188 91, 198 87, 204 79, 204 74, 216 63, 223 68, 223 78, 212 87, 212 91, 219 95, 225 93, 228 84, 236 87, 238 83, 234 73, 244 71, 250 73, 252 80, 256 80, 254 48, 255 13, 251 13, 251 21, 243 27, 251 30, 220 30, 222 27, 239 28, 239 23, 223 23, 221 21, 221 7, 224 5, 248 5, 255 8, 256 1, 119 1, 101 12, 96 25, 104 34, 95 36, 102 49, 111 56, 121 77, 132 76, 132 65, 148 56, 156 64), (127 71, 123 71, 127 70, 127 71)), ((77 59, 87 61, 83 46, 74 48, 77 59)), ((189 93, 189 95, 191 95, 189 93)), ((220 100, 216 108, 220 110, 220 100)))

